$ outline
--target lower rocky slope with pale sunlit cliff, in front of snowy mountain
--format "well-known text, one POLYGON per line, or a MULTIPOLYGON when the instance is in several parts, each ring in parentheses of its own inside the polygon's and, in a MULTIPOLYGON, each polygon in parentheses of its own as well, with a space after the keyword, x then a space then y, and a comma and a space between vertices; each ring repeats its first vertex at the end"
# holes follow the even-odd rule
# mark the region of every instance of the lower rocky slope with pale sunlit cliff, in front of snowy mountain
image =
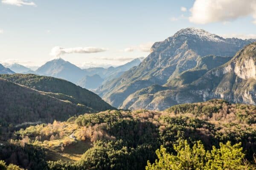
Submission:
MULTIPOLYGON (((147 88, 137 91, 123 102, 122 108, 164 110, 166 105, 202 102, 214 98, 256 105, 255 65, 256 42, 245 46, 224 65, 204 71, 203 74, 193 72, 193 76, 190 74, 183 77, 181 82, 185 83, 180 83, 177 87, 172 82, 173 86, 159 88, 153 93, 143 93, 147 88), (194 77, 192 81, 191 77, 194 77)), ((173 81, 175 82, 175 79, 173 81)))

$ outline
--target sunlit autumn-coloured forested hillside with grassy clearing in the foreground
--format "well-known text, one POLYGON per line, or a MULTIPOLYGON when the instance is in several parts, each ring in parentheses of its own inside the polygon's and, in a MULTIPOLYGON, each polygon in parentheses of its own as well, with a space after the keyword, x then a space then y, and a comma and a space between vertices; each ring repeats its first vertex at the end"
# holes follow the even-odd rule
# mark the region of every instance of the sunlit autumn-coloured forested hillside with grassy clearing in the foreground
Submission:
MULTIPOLYGON (((15 133, 11 143, 44 148, 45 156, 42 154, 40 158, 47 165, 41 164, 42 169, 47 166, 50 170, 141 170, 147 165, 151 168, 157 159, 155 150, 161 145, 161 152, 157 153, 172 154, 177 156, 175 160, 180 158, 176 154, 182 154, 179 153, 182 148, 191 146, 186 152, 192 154, 192 149, 197 147, 200 148, 198 152, 204 153, 204 150, 212 150, 213 146, 219 148, 221 145, 227 153, 236 152, 238 157, 244 157, 233 163, 237 167, 230 168, 230 164, 227 164, 228 168, 253 169, 253 154, 256 152, 255 116, 256 106, 230 104, 217 99, 176 105, 163 112, 104 111, 74 116, 67 122, 54 121, 48 125, 28 127, 15 133), (194 144, 197 145, 192 148, 194 144)), ((214 156, 214 153, 208 156, 214 156)), ((158 158, 163 161, 160 155, 158 158)), ((230 157, 228 161, 236 158, 230 157)), ((26 168, 20 161, 5 156, 0 159, 26 168)), ((225 166, 226 161, 227 157, 219 159, 225 166)), ((196 166, 196 161, 192 161, 191 165, 196 166)))

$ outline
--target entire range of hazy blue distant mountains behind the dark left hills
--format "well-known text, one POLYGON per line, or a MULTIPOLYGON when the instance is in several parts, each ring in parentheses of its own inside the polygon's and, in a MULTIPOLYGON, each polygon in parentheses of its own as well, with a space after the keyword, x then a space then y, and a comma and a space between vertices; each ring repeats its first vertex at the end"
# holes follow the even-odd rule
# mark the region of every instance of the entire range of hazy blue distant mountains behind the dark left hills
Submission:
POLYGON ((0 67, 0 74, 20 73, 51 76, 66 79, 67 81, 81 86, 82 88, 96 89, 102 85, 102 83, 108 82, 111 79, 118 78, 125 71, 128 71, 130 68, 139 65, 143 59, 144 57, 136 58, 131 62, 120 65, 118 67, 81 69, 76 65, 65 61, 64 59, 58 58, 46 62, 36 71, 32 71, 30 68, 17 63, 5 65, 6 68, 2 66, 4 70, 0 67))

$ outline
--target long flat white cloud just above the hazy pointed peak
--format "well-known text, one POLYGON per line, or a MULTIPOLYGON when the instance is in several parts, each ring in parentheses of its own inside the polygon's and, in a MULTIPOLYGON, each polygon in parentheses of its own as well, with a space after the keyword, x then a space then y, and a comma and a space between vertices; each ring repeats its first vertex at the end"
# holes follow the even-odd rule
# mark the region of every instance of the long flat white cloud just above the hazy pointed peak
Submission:
POLYGON ((75 48, 63 48, 63 47, 54 47, 52 48, 50 55, 53 57, 59 57, 63 54, 71 53, 98 53, 107 51, 106 48, 96 48, 96 47, 75 47, 75 48))

